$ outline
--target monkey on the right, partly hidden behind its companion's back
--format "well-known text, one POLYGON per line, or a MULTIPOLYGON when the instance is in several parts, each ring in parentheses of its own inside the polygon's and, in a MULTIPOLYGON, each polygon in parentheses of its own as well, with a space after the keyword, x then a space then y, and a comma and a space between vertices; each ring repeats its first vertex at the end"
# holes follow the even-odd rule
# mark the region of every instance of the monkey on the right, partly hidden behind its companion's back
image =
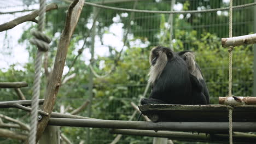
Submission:
MULTIPOLYGON (((192 51, 181 51, 181 52, 178 52, 178 55, 181 56, 184 59, 184 61, 187 63, 189 73, 195 76, 198 82, 200 83, 199 85, 202 86, 202 94, 199 94, 198 97, 202 97, 202 95, 205 96, 206 104, 209 104, 210 96, 209 96, 208 88, 207 88, 205 79, 203 78, 202 71, 199 65, 197 65, 197 63, 195 62, 194 53, 192 51)), ((196 82, 196 80, 194 81, 196 82)), ((194 85, 192 83, 192 87, 193 86, 194 85)), ((194 89, 195 88, 192 88, 192 91, 194 91, 194 89)), ((192 93, 196 93, 196 92, 192 92, 192 93)), ((204 101, 203 99, 201 100, 204 101)))

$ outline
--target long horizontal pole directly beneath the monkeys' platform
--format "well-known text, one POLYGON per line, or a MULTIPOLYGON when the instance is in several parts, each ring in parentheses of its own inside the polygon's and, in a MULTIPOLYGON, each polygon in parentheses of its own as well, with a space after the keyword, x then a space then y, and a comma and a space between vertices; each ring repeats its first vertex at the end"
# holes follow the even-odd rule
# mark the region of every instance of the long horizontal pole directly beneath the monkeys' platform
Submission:
MULTIPOLYGON (((101 119, 50 118, 49 125, 67 127, 173 130, 173 131, 228 131, 228 122, 140 122, 101 119)), ((256 131, 256 122, 234 122, 234 131, 256 131)))

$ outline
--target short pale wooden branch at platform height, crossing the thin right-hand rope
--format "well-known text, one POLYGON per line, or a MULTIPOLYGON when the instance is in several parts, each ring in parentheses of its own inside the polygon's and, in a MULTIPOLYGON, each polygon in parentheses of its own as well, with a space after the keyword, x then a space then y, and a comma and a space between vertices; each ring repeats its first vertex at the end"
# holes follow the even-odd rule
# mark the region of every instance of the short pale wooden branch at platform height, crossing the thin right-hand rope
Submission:
POLYGON ((224 105, 256 105, 256 97, 219 97, 219 104, 224 105))

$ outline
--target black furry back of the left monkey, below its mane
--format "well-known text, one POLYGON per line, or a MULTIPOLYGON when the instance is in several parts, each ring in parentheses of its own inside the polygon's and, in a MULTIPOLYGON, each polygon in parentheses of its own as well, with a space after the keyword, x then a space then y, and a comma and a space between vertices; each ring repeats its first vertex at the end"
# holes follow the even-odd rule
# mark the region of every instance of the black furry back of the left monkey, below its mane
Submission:
POLYGON ((150 98, 167 104, 190 104, 191 83, 187 64, 176 54, 168 59, 165 69, 155 81, 150 98))

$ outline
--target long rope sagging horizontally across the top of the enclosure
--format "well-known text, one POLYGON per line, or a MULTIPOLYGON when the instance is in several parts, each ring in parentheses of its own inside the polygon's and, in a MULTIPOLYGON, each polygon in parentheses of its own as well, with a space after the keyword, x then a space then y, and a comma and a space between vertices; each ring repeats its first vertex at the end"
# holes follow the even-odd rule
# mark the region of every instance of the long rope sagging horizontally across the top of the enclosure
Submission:
MULTIPOLYGON (((66 0, 67 2, 72 2, 69 0, 66 0)), ((205 10, 186 10, 186 11, 159 11, 159 10, 138 10, 138 9, 126 9, 126 8, 117 8, 117 7, 109 7, 106 5, 101 4, 95 4, 90 2, 84 2, 84 4, 91 5, 93 7, 98 8, 104 8, 104 9, 112 9, 112 10, 120 10, 120 11, 130 11, 130 12, 136 12, 136 13, 156 13, 156 14, 188 14, 188 13, 208 13, 218 10, 229 10, 229 8, 217 8, 217 9, 205 9, 205 10)), ((245 7, 251 7, 253 5, 256 5, 256 3, 248 3, 243 5, 237 5, 233 7, 233 9, 240 9, 245 7)))

